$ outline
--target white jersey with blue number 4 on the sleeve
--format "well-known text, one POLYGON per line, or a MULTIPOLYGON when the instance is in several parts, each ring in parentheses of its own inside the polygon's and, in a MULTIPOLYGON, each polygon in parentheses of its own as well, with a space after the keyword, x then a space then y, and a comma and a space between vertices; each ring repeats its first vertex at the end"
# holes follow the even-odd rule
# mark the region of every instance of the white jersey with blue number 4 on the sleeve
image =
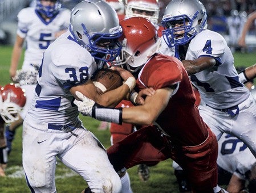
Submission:
MULTIPOLYGON (((162 41, 159 52, 176 56, 176 49, 168 48, 163 39, 162 41)), ((215 58, 217 64, 213 68, 190 75, 190 79, 206 104, 224 109, 236 106, 249 97, 249 90, 239 82, 234 57, 224 37, 210 30, 198 33, 190 41, 185 59, 195 60, 204 56, 215 58)))

